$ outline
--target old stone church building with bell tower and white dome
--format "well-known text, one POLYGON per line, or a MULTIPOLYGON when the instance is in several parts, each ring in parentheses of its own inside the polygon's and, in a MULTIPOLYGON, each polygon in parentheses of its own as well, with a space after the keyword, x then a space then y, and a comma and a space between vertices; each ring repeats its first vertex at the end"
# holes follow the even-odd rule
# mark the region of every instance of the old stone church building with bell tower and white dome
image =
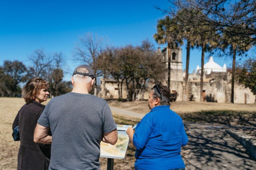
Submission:
MULTIPOLYGON (((168 48, 161 50, 158 48, 156 51, 162 55, 162 61, 165 62, 166 68, 168 68, 168 48)), ((201 68, 196 67, 193 74, 189 74, 189 89, 188 89, 188 101, 200 101, 200 73, 201 68)), ((182 49, 171 49, 171 75, 170 75, 170 90, 171 92, 178 92, 179 97, 177 101, 184 100, 185 93, 185 71, 182 71, 182 49)), ((162 82, 167 84, 167 72, 165 80, 162 82)), ((209 61, 204 64, 203 75, 203 101, 205 102, 219 102, 230 103, 231 101, 231 73, 227 72, 226 64, 221 67, 214 62, 213 57, 210 57, 209 61)), ((153 85, 149 84, 147 91, 144 94, 144 99, 148 99, 148 92, 153 85)), ((123 86, 123 99, 126 99, 126 87, 123 86)), ((102 98, 118 98, 117 83, 113 79, 101 79, 101 92, 102 98)), ((249 88, 236 84, 234 89, 234 103, 250 104, 255 102, 255 95, 249 88)))

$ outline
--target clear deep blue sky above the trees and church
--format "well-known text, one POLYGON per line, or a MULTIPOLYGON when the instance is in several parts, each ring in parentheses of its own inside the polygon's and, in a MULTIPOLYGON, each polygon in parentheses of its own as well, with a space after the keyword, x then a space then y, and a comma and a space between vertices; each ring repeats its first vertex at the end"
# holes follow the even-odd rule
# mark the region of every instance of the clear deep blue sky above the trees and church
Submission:
MULTIPOLYGON (((167 0, 0 0, 0 65, 4 60, 19 60, 31 65, 28 56, 35 49, 44 49, 46 53, 62 52, 66 68, 72 72, 81 64, 72 57, 75 44, 79 36, 88 32, 107 37, 109 44, 114 46, 139 45, 148 38, 156 49, 163 47, 152 37, 156 33, 157 20, 164 17, 155 9, 156 5, 167 8, 170 3, 167 0)), ((184 45, 182 49, 185 69, 184 45)), ((231 67, 230 58, 214 57, 214 61, 231 67)), ((191 50, 189 72, 200 66, 200 62, 201 50, 191 50)), ((66 74, 64 80, 69 80, 70 76, 66 74)))

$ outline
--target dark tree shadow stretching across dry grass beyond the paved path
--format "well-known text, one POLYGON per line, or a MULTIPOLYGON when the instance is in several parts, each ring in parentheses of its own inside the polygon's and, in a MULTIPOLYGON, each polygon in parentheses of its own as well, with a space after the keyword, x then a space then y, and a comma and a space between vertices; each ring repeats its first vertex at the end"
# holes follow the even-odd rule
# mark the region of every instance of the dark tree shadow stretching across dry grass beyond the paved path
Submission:
POLYGON ((256 112, 211 110, 180 114, 183 120, 228 126, 256 126, 256 112))

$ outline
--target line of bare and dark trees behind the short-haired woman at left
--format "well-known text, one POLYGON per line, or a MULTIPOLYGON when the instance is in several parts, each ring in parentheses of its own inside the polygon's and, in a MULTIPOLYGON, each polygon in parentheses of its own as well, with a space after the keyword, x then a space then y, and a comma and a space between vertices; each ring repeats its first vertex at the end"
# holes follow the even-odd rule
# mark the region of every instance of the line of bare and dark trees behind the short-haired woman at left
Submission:
POLYGON ((45 54, 43 50, 38 49, 28 59, 31 66, 26 66, 17 60, 5 60, 0 66, 0 95, 2 97, 20 97, 20 84, 38 76, 48 80, 50 97, 71 91, 71 82, 62 81, 64 76, 62 53, 45 54))

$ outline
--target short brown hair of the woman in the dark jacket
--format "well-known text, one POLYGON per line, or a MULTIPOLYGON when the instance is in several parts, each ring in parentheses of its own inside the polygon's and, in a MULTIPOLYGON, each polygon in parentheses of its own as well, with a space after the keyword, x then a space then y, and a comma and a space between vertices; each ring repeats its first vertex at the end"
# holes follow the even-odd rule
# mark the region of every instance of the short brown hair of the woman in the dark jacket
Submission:
POLYGON ((22 96, 26 103, 30 103, 36 99, 36 96, 40 93, 40 90, 48 89, 49 82, 41 77, 34 77, 30 79, 22 88, 22 96))

